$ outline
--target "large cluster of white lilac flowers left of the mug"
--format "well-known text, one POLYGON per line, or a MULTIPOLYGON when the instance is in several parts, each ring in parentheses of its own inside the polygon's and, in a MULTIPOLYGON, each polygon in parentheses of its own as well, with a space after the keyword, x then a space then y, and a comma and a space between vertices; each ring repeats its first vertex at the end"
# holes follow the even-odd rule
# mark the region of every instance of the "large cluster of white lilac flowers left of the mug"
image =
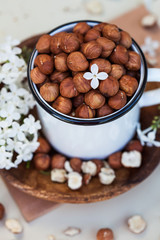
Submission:
POLYGON ((0 44, 0 169, 7 170, 32 159, 41 128, 31 114, 27 116, 35 101, 23 84, 27 67, 17 55, 21 53, 17 44, 10 37, 0 44))

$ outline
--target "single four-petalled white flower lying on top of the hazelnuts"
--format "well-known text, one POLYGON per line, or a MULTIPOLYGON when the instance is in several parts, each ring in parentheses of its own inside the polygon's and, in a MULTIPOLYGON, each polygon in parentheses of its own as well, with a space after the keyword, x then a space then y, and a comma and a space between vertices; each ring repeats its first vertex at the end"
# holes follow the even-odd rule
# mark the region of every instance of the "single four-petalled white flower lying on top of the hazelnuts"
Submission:
POLYGON ((96 89, 99 86, 99 80, 105 80, 108 77, 106 72, 98 72, 97 64, 91 66, 91 72, 86 72, 83 74, 86 80, 91 80, 91 87, 96 89))

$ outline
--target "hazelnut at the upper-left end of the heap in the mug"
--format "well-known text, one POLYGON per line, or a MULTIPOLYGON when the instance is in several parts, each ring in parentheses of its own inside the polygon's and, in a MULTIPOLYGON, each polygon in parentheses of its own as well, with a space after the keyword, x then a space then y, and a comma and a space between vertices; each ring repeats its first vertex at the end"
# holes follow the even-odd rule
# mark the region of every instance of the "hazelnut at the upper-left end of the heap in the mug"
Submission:
POLYGON ((51 36, 48 34, 42 35, 37 44, 36 49, 39 53, 49 53, 50 52, 50 43, 51 43, 51 36))

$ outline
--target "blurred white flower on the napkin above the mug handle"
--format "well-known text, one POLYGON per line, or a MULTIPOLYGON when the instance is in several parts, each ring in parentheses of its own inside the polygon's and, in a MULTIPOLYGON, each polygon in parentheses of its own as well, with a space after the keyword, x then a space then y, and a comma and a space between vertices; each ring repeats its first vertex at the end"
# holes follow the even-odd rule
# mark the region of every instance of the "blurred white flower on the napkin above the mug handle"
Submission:
POLYGON ((141 46, 142 51, 147 53, 149 57, 156 57, 156 50, 160 47, 160 42, 157 40, 152 40, 151 37, 146 37, 144 39, 144 44, 141 46))

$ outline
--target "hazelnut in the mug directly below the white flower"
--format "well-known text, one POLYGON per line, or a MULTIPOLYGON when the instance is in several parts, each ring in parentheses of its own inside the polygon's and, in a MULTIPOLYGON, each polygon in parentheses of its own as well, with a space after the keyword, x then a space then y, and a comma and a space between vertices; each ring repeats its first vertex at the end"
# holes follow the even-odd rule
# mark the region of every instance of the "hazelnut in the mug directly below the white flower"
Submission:
POLYGON ((97 90, 91 90, 84 96, 85 103, 92 109, 97 109, 105 104, 105 97, 97 90))

